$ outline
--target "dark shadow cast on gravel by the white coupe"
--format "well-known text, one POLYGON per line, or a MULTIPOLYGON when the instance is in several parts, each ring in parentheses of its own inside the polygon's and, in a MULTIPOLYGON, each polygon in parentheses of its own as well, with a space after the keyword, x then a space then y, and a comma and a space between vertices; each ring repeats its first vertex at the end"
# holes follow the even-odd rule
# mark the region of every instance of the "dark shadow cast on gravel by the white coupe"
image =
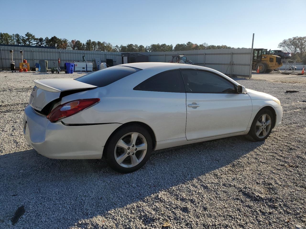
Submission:
POLYGON ((114 172, 105 160, 56 160, 35 150, 0 155, 0 208, 6 207, 0 220, 24 205, 20 221, 32 228, 47 228, 58 217, 58 228, 74 226, 235 163, 262 144, 237 136, 159 150, 129 174, 114 172), (65 209, 65 216, 58 209, 65 209))

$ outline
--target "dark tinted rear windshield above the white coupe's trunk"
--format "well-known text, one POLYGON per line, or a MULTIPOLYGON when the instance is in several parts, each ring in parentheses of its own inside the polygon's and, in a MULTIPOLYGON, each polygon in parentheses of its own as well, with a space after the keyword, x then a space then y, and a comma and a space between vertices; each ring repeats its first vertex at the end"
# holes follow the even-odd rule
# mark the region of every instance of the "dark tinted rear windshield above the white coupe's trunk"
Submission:
POLYGON ((104 87, 140 70, 134 67, 113 66, 81 76, 76 78, 76 80, 98 87, 104 87))

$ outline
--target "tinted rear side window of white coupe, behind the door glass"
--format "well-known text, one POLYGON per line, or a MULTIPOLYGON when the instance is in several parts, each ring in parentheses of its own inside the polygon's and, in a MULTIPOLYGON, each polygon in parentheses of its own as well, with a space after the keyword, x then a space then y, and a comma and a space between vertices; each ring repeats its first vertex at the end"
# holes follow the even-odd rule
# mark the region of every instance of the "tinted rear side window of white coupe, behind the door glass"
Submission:
POLYGON ((185 86, 181 72, 174 70, 154 75, 137 85, 134 90, 185 92, 185 86))

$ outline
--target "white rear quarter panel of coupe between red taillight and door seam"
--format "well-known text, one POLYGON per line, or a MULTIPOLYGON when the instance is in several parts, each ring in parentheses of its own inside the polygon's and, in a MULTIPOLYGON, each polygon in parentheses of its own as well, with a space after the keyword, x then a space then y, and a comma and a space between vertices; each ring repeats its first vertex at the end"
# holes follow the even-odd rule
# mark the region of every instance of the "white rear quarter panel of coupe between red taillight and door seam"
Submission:
POLYGON ((75 99, 101 100, 99 104, 62 121, 68 124, 136 121, 149 125, 157 141, 186 137, 185 93, 133 90, 145 79, 166 70, 165 67, 141 70, 105 87, 66 96, 62 104, 75 99))

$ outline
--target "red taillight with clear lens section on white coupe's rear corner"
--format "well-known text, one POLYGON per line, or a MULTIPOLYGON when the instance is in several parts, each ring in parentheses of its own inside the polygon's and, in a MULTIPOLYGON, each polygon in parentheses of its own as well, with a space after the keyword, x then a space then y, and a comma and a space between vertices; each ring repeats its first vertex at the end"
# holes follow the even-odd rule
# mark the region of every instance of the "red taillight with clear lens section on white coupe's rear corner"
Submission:
POLYGON ((50 122, 57 122, 62 118, 69 117, 74 115, 84 109, 98 103, 100 99, 84 99, 84 100, 74 100, 65 104, 61 104, 58 107, 55 107, 50 114, 47 116, 47 119, 50 122))

